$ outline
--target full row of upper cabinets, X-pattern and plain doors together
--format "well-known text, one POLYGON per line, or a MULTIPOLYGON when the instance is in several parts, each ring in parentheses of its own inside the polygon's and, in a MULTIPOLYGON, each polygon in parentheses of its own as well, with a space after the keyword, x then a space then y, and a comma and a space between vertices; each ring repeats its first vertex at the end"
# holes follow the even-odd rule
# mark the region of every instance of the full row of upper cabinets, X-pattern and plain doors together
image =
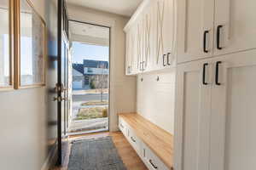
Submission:
POLYGON ((144 0, 125 26, 127 38, 134 36, 126 70, 157 71, 256 48, 255 7, 253 0, 144 0))

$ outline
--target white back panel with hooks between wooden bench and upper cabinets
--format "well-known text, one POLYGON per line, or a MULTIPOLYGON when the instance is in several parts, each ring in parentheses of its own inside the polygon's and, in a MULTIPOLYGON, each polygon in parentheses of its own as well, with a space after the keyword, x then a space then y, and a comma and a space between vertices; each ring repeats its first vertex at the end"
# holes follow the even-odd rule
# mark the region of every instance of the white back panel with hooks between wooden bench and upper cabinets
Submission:
POLYGON ((137 113, 172 134, 174 133, 175 78, 174 70, 137 77, 137 113), (141 82, 142 78, 143 82, 141 82))

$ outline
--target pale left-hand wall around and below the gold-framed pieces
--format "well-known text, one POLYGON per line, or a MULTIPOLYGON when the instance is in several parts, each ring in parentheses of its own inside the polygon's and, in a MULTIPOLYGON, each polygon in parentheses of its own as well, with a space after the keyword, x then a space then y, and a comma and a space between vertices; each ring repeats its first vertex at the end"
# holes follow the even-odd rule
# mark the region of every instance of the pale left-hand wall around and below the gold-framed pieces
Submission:
MULTIPOLYGON (((44 0, 31 2, 44 16, 44 7, 49 6, 49 1, 48 4, 44 0)), ((0 92, 0 169, 40 170, 43 167, 51 145, 47 92, 46 88, 0 92)))

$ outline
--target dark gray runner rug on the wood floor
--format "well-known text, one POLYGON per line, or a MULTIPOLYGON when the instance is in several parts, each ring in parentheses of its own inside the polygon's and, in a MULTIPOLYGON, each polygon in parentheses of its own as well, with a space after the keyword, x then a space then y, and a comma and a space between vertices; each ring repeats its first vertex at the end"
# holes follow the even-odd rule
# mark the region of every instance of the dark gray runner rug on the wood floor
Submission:
POLYGON ((73 141, 68 170, 126 170, 111 137, 73 141))

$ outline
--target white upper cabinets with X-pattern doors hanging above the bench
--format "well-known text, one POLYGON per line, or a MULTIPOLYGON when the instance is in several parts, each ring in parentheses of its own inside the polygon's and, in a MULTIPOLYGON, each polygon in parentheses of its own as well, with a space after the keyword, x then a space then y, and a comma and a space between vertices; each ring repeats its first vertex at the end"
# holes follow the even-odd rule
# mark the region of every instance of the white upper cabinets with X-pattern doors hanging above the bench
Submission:
POLYGON ((125 26, 126 74, 133 75, 175 66, 176 27, 174 0, 144 1, 125 26), (132 35, 136 35, 133 41, 132 35), (131 48, 132 46, 137 46, 136 56, 131 51, 136 50, 131 48), (137 65, 136 71, 131 71, 131 60, 137 65))

